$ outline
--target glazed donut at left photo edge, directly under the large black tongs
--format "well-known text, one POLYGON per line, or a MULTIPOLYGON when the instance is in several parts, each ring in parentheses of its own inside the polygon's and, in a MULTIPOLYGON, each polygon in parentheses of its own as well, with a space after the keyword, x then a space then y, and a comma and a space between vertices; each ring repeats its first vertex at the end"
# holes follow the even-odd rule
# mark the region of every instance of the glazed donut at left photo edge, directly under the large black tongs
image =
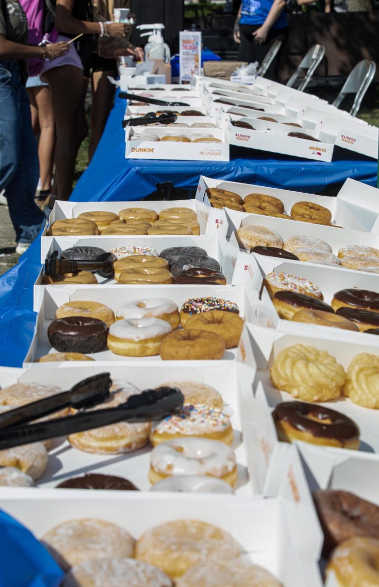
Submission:
POLYGON ((33 480, 41 477, 47 466, 48 453, 42 442, 0 450, 0 467, 15 467, 33 480))

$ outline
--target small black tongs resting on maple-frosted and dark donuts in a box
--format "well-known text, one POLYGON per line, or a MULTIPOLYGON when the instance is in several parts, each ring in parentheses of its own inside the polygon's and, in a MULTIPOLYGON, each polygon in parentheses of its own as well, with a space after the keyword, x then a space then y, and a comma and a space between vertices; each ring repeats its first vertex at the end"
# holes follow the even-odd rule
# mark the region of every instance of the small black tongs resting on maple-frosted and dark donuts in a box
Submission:
POLYGON ((54 251, 51 257, 45 259, 45 275, 65 275, 77 271, 91 271, 107 279, 115 275, 113 263, 117 261, 117 257, 113 253, 102 253, 95 261, 72 261, 57 257, 58 251, 54 251))

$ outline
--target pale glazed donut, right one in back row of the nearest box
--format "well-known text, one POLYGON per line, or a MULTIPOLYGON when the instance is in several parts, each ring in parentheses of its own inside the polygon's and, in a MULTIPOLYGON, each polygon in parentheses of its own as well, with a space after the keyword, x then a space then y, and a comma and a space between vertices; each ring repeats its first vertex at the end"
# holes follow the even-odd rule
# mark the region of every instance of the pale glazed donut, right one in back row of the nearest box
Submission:
POLYGON ((234 538, 222 529, 197 521, 176 519, 144 532, 136 544, 136 559, 157 566, 176 579, 201 561, 227 561, 240 555, 234 538))

